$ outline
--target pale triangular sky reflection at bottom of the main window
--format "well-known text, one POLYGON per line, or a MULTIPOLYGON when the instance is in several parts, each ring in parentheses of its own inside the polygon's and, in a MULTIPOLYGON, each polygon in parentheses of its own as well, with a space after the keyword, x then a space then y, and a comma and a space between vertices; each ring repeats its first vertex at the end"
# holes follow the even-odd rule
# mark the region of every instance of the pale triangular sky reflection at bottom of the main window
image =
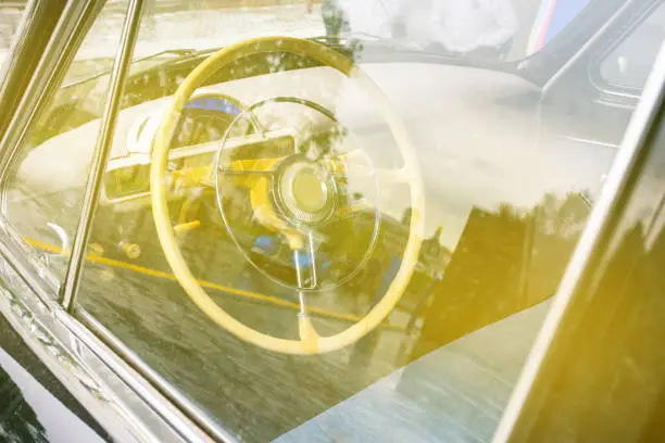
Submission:
POLYGON ((490 441, 549 306, 443 345, 275 443, 490 441))

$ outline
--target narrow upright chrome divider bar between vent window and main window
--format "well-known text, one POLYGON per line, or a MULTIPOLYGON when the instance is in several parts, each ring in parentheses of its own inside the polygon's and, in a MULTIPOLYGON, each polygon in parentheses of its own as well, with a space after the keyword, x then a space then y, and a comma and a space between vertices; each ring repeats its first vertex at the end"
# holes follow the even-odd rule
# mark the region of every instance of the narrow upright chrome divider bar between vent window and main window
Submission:
POLYGON ((106 107, 102 116, 97 148, 90 164, 90 172, 88 173, 88 181, 83 200, 81 213, 78 218, 78 227, 74 236, 72 255, 70 256, 67 271, 61 289, 61 302, 67 312, 72 312, 76 300, 76 293, 78 292, 86 246, 90 240, 92 218, 95 217, 95 211, 99 201, 103 172, 111 154, 113 131, 121 107, 125 80, 129 72, 129 64, 131 63, 131 55, 134 54, 134 47, 140 29, 141 16, 145 9, 143 5, 143 0, 130 0, 123 25, 121 45, 117 49, 115 62, 113 63, 113 72, 110 79, 111 84, 108 92, 109 101, 106 102, 106 107))

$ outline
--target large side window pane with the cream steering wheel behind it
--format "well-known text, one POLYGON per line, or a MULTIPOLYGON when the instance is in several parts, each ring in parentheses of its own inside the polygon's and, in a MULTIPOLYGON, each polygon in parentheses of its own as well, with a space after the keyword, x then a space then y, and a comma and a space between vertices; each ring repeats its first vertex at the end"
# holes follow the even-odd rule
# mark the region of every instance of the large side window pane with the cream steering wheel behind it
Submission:
MULTIPOLYGON (((572 83, 541 119, 503 63, 566 2, 267 3, 150 4, 133 60, 170 55, 129 71, 75 312, 242 441, 489 441, 614 156, 567 122, 631 110, 572 83)), ((86 118, 26 187, 85 183, 86 118)))

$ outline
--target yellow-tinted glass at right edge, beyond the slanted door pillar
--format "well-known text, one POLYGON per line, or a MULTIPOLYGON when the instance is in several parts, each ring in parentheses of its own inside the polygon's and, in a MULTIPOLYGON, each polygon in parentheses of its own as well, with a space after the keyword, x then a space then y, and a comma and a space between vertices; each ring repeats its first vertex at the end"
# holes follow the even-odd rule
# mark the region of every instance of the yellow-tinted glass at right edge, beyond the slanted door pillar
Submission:
POLYGON ((511 441, 665 438, 665 127, 655 119, 648 131, 629 170, 632 185, 619 191, 612 227, 579 269, 585 277, 539 362, 511 441))

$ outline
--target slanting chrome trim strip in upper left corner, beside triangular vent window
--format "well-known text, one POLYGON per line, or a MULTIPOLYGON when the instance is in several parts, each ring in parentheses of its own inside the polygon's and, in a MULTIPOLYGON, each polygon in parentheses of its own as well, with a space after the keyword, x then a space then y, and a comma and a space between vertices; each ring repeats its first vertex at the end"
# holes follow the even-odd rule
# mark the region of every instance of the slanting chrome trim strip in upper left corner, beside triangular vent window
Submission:
MULTIPOLYGON (((20 148, 23 147, 28 129, 43 111, 45 101, 60 85, 64 76, 61 67, 67 65, 86 36, 105 0, 68 1, 62 13, 45 56, 39 62, 36 74, 30 80, 14 118, 0 141, 0 183, 7 183, 7 173, 20 148)), ((0 192, 2 212, 5 210, 5 193, 0 192)))

